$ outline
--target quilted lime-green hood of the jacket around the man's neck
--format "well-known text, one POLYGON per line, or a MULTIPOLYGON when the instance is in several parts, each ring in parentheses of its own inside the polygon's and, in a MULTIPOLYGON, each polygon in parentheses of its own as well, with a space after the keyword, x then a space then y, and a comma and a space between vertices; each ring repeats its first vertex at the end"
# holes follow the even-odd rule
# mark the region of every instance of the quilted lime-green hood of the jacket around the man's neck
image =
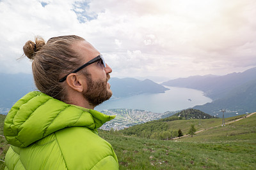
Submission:
POLYGON ((26 147, 65 127, 97 129, 115 116, 64 103, 42 92, 29 92, 13 105, 4 120, 4 136, 26 147))

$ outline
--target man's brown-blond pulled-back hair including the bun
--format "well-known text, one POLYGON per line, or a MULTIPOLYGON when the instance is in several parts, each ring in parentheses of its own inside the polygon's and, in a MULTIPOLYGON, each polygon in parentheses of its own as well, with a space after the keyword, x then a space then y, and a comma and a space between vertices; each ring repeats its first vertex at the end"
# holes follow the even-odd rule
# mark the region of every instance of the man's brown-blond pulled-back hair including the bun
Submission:
POLYGON ((81 65, 79 55, 71 46, 77 41, 84 41, 79 36, 58 36, 45 43, 36 36, 35 43, 27 41, 23 46, 24 54, 32 62, 35 85, 38 90, 58 100, 65 101, 64 86, 59 82, 61 75, 70 73, 81 65))

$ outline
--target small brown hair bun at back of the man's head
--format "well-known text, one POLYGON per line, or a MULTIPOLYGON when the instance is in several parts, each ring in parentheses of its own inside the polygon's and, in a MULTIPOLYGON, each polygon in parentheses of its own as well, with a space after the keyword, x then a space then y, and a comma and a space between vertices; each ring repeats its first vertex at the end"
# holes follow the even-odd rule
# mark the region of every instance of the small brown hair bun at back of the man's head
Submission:
POLYGON ((33 41, 27 41, 26 44, 23 46, 23 52, 24 54, 31 60, 34 59, 36 52, 38 52, 42 46, 45 45, 45 41, 42 37, 36 36, 35 42, 33 41))

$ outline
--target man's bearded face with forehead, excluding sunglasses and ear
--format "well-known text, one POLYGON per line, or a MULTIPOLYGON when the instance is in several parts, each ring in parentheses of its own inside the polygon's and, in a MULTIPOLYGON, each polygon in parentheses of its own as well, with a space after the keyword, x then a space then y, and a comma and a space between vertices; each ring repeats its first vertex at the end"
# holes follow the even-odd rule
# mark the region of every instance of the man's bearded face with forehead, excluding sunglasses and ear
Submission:
MULTIPOLYGON (((76 45, 77 52, 81 56, 81 64, 97 57, 100 53, 87 41, 79 41, 76 45)), ((102 102, 108 100, 112 96, 112 91, 108 80, 109 73, 112 72, 111 67, 106 64, 103 66, 102 62, 95 62, 83 69, 84 80, 87 87, 83 90, 83 96, 91 106, 97 106, 102 102)))

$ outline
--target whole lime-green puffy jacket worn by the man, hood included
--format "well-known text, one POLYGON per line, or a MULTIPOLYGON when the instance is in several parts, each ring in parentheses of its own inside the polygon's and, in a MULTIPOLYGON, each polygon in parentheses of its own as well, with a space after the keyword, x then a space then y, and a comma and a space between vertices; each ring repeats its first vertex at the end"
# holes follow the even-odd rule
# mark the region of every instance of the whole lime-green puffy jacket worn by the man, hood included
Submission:
POLYGON ((30 92, 4 120, 11 144, 5 169, 118 169, 112 146, 97 132, 113 118, 30 92))

